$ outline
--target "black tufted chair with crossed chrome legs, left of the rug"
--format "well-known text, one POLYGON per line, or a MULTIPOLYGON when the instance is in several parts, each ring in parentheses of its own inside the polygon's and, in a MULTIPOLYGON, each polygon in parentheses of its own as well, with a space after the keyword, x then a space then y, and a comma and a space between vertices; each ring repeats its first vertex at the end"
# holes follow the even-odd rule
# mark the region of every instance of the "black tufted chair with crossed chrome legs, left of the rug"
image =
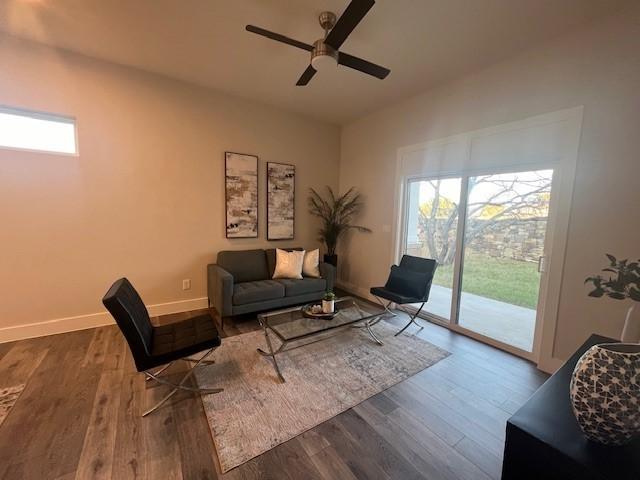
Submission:
POLYGON ((129 344, 138 372, 143 372, 147 380, 155 380, 173 389, 155 406, 145 411, 145 417, 155 411, 178 390, 198 393, 219 393, 215 388, 194 388, 184 385, 194 374, 195 368, 201 364, 211 364, 206 358, 220 346, 220 337, 213 319, 209 315, 182 320, 168 325, 153 326, 144 302, 126 278, 116 280, 107 291, 102 303, 109 310, 129 344), (205 351, 199 359, 188 358, 190 355, 205 351), (162 377, 165 371, 176 360, 195 362, 180 382, 173 383, 162 377), (163 366, 156 372, 148 372, 151 368, 163 366))

